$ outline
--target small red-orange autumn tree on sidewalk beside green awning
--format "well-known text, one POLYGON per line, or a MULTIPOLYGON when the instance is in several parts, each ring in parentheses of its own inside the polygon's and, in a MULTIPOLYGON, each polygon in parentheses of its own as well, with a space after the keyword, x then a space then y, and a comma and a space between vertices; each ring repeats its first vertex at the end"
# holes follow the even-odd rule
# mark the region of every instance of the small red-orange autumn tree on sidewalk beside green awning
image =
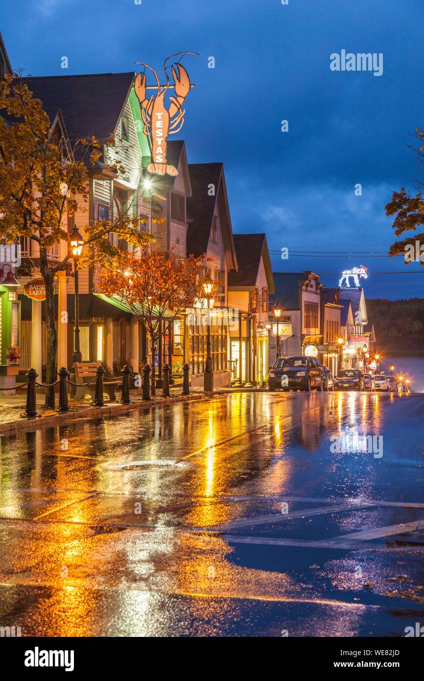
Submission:
POLYGON ((154 394, 154 360, 158 340, 169 332, 174 319, 201 299, 203 257, 176 257, 156 245, 133 253, 119 253, 103 262, 99 290, 116 296, 144 323, 150 336, 151 378, 154 394))

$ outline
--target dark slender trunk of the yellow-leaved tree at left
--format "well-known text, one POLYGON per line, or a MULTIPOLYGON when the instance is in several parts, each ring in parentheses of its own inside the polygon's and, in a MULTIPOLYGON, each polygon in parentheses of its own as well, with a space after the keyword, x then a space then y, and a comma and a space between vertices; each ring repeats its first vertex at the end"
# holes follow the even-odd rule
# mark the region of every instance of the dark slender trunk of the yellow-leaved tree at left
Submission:
MULTIPOLYGON (((47 264, 47 251, 40 249, 40 271, 46 284, 46 328, 47 328, 47 351, 46 351, 46 383, 54 383, 56 375, 57 355, 57 331, 54 323, 54 285, 53 275, 49 272, 47 264)), ((42 377, 39 377, 42 381, 42 377)), ((44 407, 54 409, 54 387, 46 388, 46 400, 44 407)))

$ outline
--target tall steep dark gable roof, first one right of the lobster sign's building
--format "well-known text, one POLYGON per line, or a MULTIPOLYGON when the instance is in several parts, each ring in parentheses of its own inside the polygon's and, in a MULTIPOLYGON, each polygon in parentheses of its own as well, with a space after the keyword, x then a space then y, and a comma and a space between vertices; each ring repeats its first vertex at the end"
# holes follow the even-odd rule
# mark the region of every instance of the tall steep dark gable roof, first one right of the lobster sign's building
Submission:
POLYGON ((215 206, 221 196, 227 216, 227 229, 221 223, 227 268, 237 270, 238 263, 235 255, 223 163, 189 163, 189 173, 193 195, 187 199, 187 217, 189 219, 186 238, 187 254, 193 253, 195 257, 199 257, 208 250, 215 206), (215 187, 213 196, 210 196, 209 185, 215 187))

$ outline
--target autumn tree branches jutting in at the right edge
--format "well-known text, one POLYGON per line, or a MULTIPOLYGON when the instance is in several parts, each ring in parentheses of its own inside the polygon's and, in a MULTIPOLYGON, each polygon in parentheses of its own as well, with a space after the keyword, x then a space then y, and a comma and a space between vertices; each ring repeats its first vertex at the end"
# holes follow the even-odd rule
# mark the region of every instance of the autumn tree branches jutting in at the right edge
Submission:
MULTIPOLYGON (((413 136, 418 144, 410 148, 417 154, 419 172, 424 172, 424 130, 417 128, 413 136)), ((395 215, 393 229, 396 236, 401 236, 404 232, 416 232, 424 225, 424 183, 421 180, 415 180, 413 185, 416 191, 414 195, 402 187, 400 191, 393 191, 391 201, 386 206, 386 215, 395 215)), ((412 262, 415 258, 406 256, 408 252, 415 250, 416 241, 424 247, 424 232, 396 241, 390 247, 389 256, 404 255, 406 263, 412 262)), ((424 254, 421 257, 423 251, 416 253, 421 265, 424 265, 424 254)))

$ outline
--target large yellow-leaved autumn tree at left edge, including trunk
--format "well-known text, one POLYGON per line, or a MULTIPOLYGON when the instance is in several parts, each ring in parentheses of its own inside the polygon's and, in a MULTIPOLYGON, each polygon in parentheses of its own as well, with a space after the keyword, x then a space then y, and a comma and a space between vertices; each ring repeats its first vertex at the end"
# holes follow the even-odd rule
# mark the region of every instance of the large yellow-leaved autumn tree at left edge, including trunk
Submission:
MULTIPOLYGON (((82 207, 89 193, 87 166, 101 157, 103 145, 113 146, 113 137, 80 139, 72 146, 69 140, 53 139, 42 102, 33 97, 25 78, 15 74, 0 82, 0 238, 11 244, 29 237, 39 247, 39 270, 46 285, 47 383, 56 380, 54 277, 71 257, 69 250, 60 262, 50 262, 48 251, 61 240, 69 244, 67 220, 77 210, 87 210, 82 207)), ((110 169, 119 170, 118 165, 110 169)), ((148 240, 128 212, 110 221, 87 219, 80 268, 93 264, 95 253, 117 255, 111 232, 135 246, 148 240)), ((53 388, 46 390, 46 407, 54 407, 53 388)))

